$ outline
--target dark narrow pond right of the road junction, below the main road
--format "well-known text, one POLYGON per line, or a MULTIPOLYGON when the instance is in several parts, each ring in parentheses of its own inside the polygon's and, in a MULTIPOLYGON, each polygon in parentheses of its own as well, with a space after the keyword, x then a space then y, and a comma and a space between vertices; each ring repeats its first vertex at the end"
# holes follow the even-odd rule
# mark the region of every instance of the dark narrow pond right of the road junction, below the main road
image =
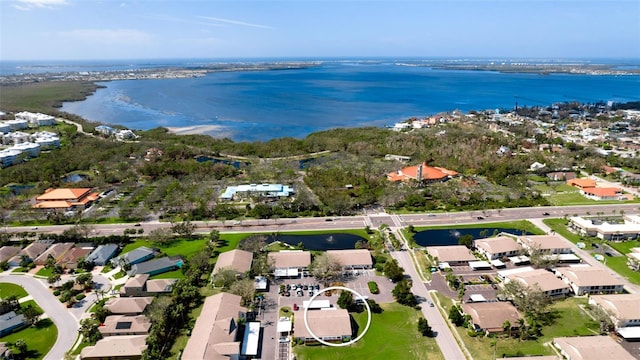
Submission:
MULTIPOLYGON (((523 235, 523 231, 521 229, 471 228, 424 230, 415 233, 413 238, 416 241, 416 244, 418 244, 419 246, 458 245, 458 239, 460 239, 460 236, 462 235, 470 234, 474 239, 482 239, 501 232, 506 232, 514 235, 523 235)), ((525 231, 524 235, 533 234, 525 231)))

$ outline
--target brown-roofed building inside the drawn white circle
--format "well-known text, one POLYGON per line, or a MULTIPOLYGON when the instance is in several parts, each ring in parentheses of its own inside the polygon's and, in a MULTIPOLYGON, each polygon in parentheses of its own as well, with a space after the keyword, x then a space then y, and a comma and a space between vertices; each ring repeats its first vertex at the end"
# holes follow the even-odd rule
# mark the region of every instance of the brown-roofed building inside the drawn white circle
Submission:
MULTIPOLYGON (((305 343, 317 343, 305 326, 304 311, 295 312, 293 316, 293 337, 304 340, 305 343)), ((320 340, 326 342, 349 341, 353 333, 351 319, 346 309, 309 310, 307 324, 320 340)))

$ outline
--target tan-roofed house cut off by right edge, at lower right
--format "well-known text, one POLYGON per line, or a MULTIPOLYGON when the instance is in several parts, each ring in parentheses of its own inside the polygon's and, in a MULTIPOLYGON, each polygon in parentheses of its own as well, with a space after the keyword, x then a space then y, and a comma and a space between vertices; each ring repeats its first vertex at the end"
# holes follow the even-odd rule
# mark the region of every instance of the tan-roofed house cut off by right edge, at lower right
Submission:
POLYGON ((609 313, 616 328, 640 326, 640 294, 593 295, 589 304, 609 313))

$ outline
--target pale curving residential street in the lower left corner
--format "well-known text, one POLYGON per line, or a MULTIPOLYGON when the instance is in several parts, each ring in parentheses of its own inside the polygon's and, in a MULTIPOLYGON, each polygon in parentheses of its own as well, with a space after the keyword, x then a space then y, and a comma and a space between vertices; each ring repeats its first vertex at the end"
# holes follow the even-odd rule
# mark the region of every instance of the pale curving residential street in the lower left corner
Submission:
POLYGON ((40 280, 26 275, 0 275, 0 281, 22 285, 58 328, 58 338, 44 360, 64 359, 78 336, 78 322, 40 280))

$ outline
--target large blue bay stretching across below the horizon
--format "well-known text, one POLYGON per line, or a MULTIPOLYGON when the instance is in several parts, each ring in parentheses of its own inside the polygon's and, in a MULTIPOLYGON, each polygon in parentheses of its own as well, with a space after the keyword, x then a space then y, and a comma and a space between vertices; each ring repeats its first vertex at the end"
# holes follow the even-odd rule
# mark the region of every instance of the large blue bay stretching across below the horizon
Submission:
MULTIPOLYGON (((99 69, 110 67, 117 69, 110 64, 99 69)), ((640 76, 438 70, 392 61, 327 61, 305 69, 102 85, 106 88, 85 101, 65 103, 62 110, 131 129, 195 127, 237 141, 302 138, 336 127, 386 126, 455 109, 512 109, 516 101, 546 106, 640 99, 640 76)))

